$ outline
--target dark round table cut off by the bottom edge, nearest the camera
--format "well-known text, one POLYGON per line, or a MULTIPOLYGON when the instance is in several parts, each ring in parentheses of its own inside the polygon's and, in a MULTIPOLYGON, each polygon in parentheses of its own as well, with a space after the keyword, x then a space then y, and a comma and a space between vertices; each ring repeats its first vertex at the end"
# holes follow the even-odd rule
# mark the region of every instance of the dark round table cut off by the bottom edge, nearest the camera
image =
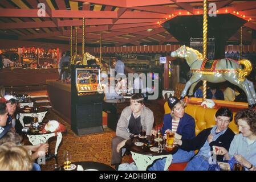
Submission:
MULTIPOLYGON (((114 168, 108 166, 107 164, 99 163, 99 162, 91 162, 91 161, 84 161, 84 162, 72 162, 71 164, 75 164, 77 171, 78 165, 82 166, 84 170, 86 169, 96 169, 97 171, 115 171, 114 168)), ((61 171, 64 171, 63 165, 61 166, 61 171)))

